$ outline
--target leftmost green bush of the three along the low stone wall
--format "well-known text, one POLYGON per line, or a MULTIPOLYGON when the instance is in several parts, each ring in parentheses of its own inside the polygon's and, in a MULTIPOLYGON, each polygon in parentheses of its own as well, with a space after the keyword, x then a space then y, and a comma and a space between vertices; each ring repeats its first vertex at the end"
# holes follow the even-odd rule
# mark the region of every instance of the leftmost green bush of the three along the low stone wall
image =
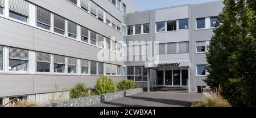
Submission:
POLYGON ((89 88, 86 88, 84 83, 79 82, 77 83, 70 91, 69 97, 71 99, 75 98, 82 98, 82 97, 88 97, 89 96, 89 88))

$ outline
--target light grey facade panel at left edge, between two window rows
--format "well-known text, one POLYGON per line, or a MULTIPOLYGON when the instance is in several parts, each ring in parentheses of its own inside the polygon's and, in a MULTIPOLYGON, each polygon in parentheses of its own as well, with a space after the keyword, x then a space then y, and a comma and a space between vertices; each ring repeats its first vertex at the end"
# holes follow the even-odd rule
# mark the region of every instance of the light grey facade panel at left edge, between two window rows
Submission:
POLYGON ((0 44, 34 50, 34 28, 0 17, 0 44))

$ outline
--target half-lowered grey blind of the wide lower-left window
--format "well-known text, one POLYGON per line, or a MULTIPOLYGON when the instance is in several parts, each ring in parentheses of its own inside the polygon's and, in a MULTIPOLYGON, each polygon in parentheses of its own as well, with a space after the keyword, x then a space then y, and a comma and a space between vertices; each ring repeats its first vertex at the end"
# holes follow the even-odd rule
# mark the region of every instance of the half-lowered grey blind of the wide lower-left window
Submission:
POLYGON ((28 60, 28 50, 9 47, 9 58, 28 60))

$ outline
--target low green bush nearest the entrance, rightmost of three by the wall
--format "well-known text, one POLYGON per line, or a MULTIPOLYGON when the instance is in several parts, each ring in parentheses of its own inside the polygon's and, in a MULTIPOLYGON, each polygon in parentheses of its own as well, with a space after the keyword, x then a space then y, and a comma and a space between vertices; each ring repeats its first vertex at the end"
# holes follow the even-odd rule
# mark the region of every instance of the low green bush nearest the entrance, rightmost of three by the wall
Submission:
POLYGON ((135 88, 139 88, 139 84, 138 82, 134 83, 131 80, 122 80, 117 84, 118 90, 129 90, 129 89, 135 89, 135 88))

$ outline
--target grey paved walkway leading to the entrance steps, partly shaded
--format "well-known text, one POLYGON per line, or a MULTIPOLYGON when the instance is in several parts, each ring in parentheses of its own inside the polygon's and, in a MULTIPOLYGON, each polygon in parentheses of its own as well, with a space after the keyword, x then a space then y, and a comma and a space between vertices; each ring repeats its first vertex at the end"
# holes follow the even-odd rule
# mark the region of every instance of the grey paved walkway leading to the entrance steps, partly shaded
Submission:
POLYGON ((91 107, 190 107, 193 100, 202 98, 198 93, 143 92, 91 107))

